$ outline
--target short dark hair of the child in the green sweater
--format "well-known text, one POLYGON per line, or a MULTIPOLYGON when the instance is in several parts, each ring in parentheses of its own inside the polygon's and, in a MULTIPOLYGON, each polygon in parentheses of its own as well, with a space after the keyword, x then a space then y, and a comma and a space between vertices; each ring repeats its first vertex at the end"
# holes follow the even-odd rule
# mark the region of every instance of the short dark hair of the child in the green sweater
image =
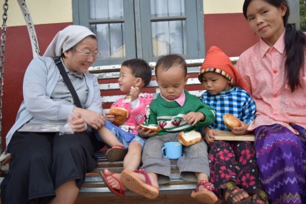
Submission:
POLYGON ((185 75, 187 75, 187 64, 185 59, 180 55, 171 54, 171 55, 161 56, 158 59, 155 65, 155 77, 157 78, 157 69, 167 71, 168 69, 170 69, 170 67, 173 66, 181 66, 185 71, 185 75))

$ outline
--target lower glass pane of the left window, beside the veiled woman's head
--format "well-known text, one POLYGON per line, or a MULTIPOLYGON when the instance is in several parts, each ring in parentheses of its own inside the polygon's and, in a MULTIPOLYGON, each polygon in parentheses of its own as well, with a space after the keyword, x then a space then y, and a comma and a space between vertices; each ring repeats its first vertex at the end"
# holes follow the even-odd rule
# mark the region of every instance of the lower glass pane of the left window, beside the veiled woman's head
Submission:
POLYGON ((91 30, 98 38, 99 59, 125 57, 123 23, 93 24, 91 30))

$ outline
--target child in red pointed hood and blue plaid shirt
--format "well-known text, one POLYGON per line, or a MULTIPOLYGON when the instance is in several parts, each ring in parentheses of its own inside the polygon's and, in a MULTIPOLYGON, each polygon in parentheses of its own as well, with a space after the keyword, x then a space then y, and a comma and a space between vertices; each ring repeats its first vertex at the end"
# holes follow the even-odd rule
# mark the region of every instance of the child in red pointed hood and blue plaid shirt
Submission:
POLYGON ((232 131, 235 135, 249 132, 247 127, 255 118, 256 106, 245 82, 231 60, 215 46, 209 49, 198 79, 206 89, 201 101, 216 111, 216 120, 202 129, 209 145, 210 180, 216 195, 226 203, 249 203, 251 199, 255 203, 265 201, 253 144, 248 141, 215 141, 218 133, 214 129, 232 131), (224 114, 237 117, 241 127, 228 129, 222 119, 224 114))

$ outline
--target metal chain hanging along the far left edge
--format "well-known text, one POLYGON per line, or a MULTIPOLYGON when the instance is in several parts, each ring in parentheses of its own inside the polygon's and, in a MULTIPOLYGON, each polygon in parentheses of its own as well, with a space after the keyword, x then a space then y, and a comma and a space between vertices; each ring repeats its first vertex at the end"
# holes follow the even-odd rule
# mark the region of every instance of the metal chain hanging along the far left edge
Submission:
POLYGON ((8 10, 9 10, 9 0, 5 0, 3 5, 3 24, 2 24, 2 35, 1 35, 1 46, 0 46, 0 149, 2 152, 2 98, 3 98, 3 74, 4 74, 4 52, 5 52, 5 41, 6 41, 6 30, 7 30, 7 19, 8 19, 8 10))

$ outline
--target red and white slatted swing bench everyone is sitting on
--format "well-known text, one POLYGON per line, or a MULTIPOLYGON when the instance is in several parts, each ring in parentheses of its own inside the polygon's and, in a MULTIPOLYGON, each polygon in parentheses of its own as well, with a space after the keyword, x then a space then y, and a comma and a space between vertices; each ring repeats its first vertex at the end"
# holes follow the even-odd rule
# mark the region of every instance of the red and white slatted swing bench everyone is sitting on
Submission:
MULTIPOLYGON (((238 57, 231 58, 233 64, 236 64, 238 57)), ((185 89, 191 94, 200 96, 203 92, 203 85, 197 79, 197 75, 203 59, 186 60, 188 65, 189 79, 185 89)), ((154 79, 155 63, 149 63, 152 67, 152 79, 149 85, 143 88, 143 92, 152 94, 159 93, 159 88, 154 79)), ((119 98, 125 95, 119 89, 118 78, 119 78, 120 65, 109 65, 109 66, 95 66, 90 68, 90 72, 96 75, 98 83, 100 84, 101 97, 103 99, 104 112, 108 111, 110 106, 119 98)), ((239 140, 239 139, 238 139, 239 140)), ((90 173, 87 173, 85 183, 79 193, 79 197, 101 197, 101 196, 115 196, 107 188, 106 184, 99 176, 99 171, 109 169, 112 172, 121 172, 123 170, 122 162, 108 162, 105 158, 106 149, 102 149, 95 153, 98 158, 97 167, 90 173)), ((160 185, 160 195, 175 195, 175 194, 191 194, 192 190, 195 189, 196 183, 187 182, 181 179, 179 175, 179 169, 176 166, 176 161, 171 161, 171 179, 169 184, 160 185)), ((1 170, 6 173, 8 171, 8 164, 1 167, 1 170)), ((3 177, 0 178, 2 181, 3 177)), ((137 194, 127 190, 127 196, 136 196, 137 194)))

